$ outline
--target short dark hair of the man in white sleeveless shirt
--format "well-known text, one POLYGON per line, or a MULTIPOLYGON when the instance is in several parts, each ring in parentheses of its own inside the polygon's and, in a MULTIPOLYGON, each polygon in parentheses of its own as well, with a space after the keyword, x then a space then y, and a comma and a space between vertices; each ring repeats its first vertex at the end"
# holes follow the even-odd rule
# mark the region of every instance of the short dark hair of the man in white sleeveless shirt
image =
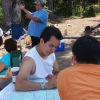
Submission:
POLYGON ((62 36, 60 30, 53 26, 46 27, 42 31, 40 38, 43 38, 44 43, 46 43, 47 41, 50 40, 51 36, 55 36, 58 40, 63 39, 63 36, 62 36))

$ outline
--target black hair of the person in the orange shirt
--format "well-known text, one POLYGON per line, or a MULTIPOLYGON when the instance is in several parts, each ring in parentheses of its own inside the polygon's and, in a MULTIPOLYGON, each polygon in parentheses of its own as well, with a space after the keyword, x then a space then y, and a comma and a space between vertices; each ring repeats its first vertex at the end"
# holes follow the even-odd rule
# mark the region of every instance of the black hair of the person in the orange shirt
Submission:
POLYGON ((80 37, 74 43, 72 52, 77 62, 100 64, 100 42, 94 37, 80 37))

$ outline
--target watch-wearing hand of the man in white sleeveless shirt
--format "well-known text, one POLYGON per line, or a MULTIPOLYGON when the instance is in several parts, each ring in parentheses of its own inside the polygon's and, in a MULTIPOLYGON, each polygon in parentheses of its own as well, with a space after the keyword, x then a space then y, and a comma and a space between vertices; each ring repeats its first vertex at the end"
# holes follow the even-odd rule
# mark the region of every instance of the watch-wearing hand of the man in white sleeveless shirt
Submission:
POLYGON ((49 79, 48 82, 45 83, 45 86, 44 86, 45 89, 52 89, 55 87, 57 87, 57 79, 56 78, 49 79))

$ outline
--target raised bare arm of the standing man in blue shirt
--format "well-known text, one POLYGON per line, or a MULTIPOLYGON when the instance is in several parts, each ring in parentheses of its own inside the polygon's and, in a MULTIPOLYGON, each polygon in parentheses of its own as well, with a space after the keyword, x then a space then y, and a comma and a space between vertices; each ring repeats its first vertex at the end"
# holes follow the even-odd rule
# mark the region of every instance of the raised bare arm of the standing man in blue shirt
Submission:
POLYGON ((25 9, 25 7, 22 4, 20 4, 20 8, 26 13, 26 18, 29 18, 35 22, 40 22, 40 19, 37 17, 31 16, 31 12, 25 9))

